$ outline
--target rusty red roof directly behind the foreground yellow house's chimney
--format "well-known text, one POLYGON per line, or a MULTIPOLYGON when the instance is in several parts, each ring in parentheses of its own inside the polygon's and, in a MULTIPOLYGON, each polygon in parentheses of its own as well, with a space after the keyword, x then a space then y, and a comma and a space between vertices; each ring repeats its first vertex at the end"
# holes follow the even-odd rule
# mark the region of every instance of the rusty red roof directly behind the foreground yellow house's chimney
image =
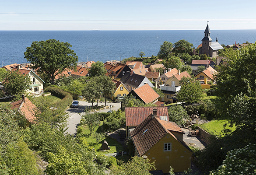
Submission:
POLYGON ((157 109, 157 116, 167 116, 169 120, 168 108, 165 106, 126 107, 126 126, 138 126, 147 116, 153 113, 153 109, 157 109))

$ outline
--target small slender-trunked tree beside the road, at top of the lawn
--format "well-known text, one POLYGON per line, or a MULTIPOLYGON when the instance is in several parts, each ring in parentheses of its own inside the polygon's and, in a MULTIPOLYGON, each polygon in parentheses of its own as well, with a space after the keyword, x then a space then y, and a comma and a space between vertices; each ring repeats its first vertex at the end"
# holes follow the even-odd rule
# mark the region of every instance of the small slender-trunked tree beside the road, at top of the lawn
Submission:
POLYGON ((96 126, 100 124, 100 116, 98 115, 97 112, 95 113, 89 113, 85 112, 85 114, 80 114, 81 116, 81 124, 85 124, 88 126, 90 130, 90 136, 91 133, 95 130, 96 126))

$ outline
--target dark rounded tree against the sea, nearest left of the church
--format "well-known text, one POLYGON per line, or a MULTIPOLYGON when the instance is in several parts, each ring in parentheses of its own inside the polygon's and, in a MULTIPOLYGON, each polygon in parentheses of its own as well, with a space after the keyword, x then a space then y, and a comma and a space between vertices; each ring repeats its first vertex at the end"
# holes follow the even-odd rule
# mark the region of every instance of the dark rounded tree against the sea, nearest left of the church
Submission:
POLYGON ((178 42, 174 43, 174 48, 172 50, 175 54, 189 54, 192 55, 193 53, 193 44, 189 43, 185 39, 179 40, 178 42))

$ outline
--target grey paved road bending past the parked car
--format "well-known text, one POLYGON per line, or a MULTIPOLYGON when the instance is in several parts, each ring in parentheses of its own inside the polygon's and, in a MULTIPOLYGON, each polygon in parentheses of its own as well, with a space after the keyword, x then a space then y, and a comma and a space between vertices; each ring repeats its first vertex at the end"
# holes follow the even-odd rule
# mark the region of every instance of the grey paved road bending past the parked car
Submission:
MULTIPOLYGON (((84 109, 91 106, 91 103, 88 102, 84 102, 84 101, 79 101, 80 106, 78 108, 69 108, 66 110, 66 112, 68 112, 69 114, 69 118, 68 118, 68 129, 67 132, 70 134, 76 134, 77 133, 77 126, 80 123, 81 120, 81 116, 79 115, 79 113, 83 114, 84 113, 84 109)), ((93 105, 96 105, 96 103, 94 103, 93 105)), ((98 105, 105 105, 105 103, 98 103, 98 105)), ((117 111, 118 109, 121 108, 121 103, 107 103, 108 106, 112 105, 114 107, 112 108, 108 108, 108 106, 106 106, 107 109, 102 109, 100 111, 97 112, 108 112, 110 110, 115 110, 117 111)))

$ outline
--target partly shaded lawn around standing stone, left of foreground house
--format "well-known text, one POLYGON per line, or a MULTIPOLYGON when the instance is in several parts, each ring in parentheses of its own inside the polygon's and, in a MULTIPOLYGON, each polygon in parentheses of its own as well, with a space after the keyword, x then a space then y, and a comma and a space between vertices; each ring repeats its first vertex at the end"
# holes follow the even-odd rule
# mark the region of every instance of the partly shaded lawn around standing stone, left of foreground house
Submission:
MULTIPOLYGON (((100 123, 100 125, 98 127, 95 128, 94 132, 102 132, 102 124, 103 122, 100 123)), ((119 152, 120 150, 124 150, 123 145, 120 144, 118 141, 110 138, 110 137, 105 137, 104 140, 106 140, 109 144, 110 150, 107 151, 101 151, 101 146, 104 140, 102 140, 100 143, 96 143, 95 138, 93 138, 93 133, 90 136, 90 131, 88 126, 82 126, 82 133, 84 134, 84 136, 86 137, 86 141, 88 142, 89 146, 94 148, 95 151, 97 151, 100 154, 108 154, 108 153, 115 153, 115 152, 119 152)))

